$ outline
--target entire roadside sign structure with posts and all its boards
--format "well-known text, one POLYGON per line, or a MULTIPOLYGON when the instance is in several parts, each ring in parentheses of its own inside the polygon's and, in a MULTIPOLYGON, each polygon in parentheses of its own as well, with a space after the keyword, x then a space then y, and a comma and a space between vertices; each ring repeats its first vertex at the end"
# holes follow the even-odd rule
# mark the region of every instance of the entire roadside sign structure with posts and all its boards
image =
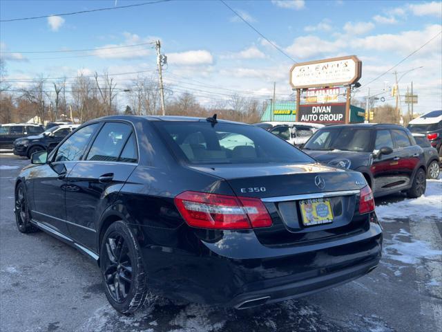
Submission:
MULTIPOLYGON (((352 84, 358 82, 361 75, 362 62, 356 55, 294 64, 290 69, 289 83, 293 89, 296 89, 296 109, 299 110, 296 112, 296 120, 307 121, 301 120, 301 118, 316 118, 314 110, 316 111, 317 104, 320 104, 321 107, 325 107, 324 109, 328 113, 328 116, 323 114, 323 120, 325 118, 333 120, 318 120, 318 122, 349 123, 350 89, 352 84), (338 86, 346 87, 344 104, 339 103, 338 86), (311 89, 319 87, 324 89, 311 89), (306 93, 305 100, 307 104, 300 105, 301 91, 306 93), (340 113, 342 105, 344 105, 343 114, 340 113), (306 107, 309 107, 310 111, 306 107), (301 108, 303 111, 301 111, 301 108), (340 111, 337 111, 338 109, 340 111), (339 116, 339 114, 343 115, 343 118, 334 118, 334 116, 339 116)), ((320 114, 317 113, 316 115, 319 119, 320 114)))

